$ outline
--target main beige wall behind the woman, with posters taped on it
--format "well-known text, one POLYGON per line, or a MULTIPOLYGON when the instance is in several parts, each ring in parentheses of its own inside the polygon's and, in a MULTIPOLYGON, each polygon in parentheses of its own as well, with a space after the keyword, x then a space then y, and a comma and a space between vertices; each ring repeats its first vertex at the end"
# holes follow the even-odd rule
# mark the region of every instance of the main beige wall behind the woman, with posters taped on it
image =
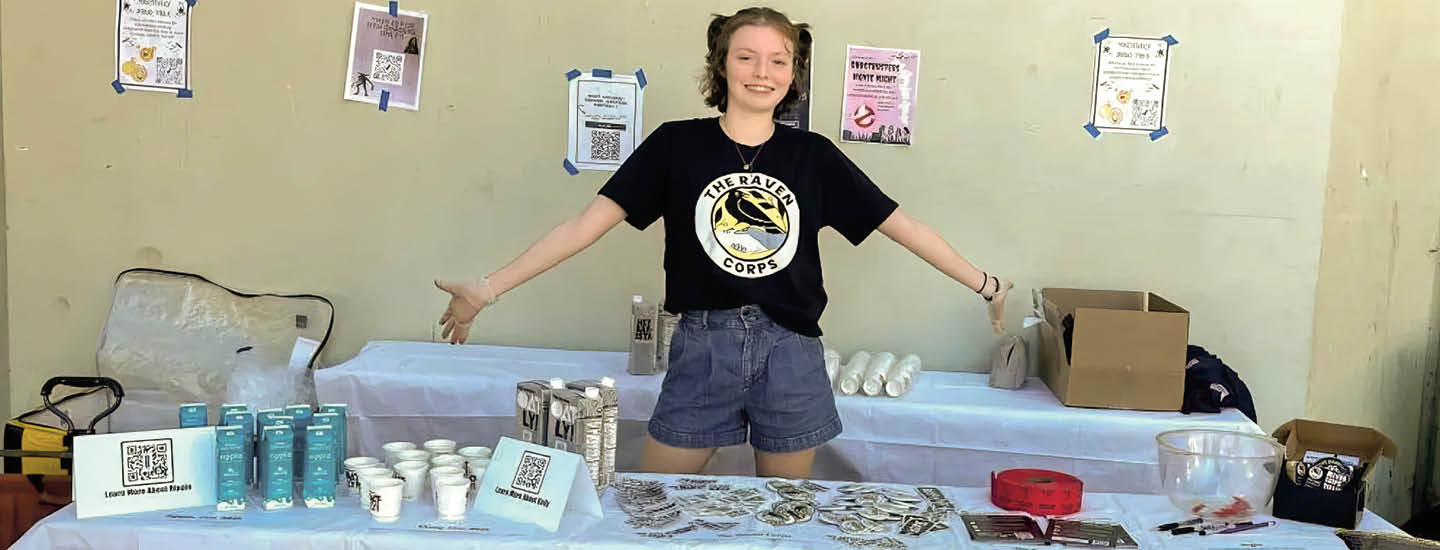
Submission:
MULTIPOLYGON (((202 3, 193 22, 196 98, 180 101, 109 91, 112 3, 72 6, 66 24, 46 26, 35 22, 52 17, 53 3, 6 0, 0 66, 9 84, 3 143, 13 269, 4 272, 16 409, 33 405, 49 376, 94 371, 111 281, 137 265, 199 272, 242 289, 330 297, 338 320, 328 363, 373 338, 431 338, 442 307, 432 276, 492 269, 579 210, 605 180, 559 168, 560 75, 645 68, 647 127, 706 115, 696 92, 706 14, 742 4, 410 1, 406 7, 432 14, 422 111, 380 114, 340 99, 350 1, 202 3)), ((1390 272, 1381 253, 1388 229, 1367 226, 1354 233, 1354 248, 1335 248, 1351 238, 1328 233, 1320 269, 1322 215, 1388 227, 1391 213, 1405 222, 1421 207, 1390 194, 1362 196, 1355 206, 1335 199, 1354 187, 1359 160, 1369 167, 1371 196, 1400 197, 1398 187, 1377 187, 1381 179, 1398 186, 1398 170, 1411 170, 1407 181, 1416 189, 1423 174, 1416 155, 1407 164, 1392 154, 1361 154, 1380 144, 1397 153, 1421 147, 1404 137, 1418 132, 1423 118, 1403 125, 1410 111, 1364 98, 1404 99, 1423 88, 1407 88, 1420 71, 1394 71, 1385 92, 1352 86, 1342 88, 1352 99, 1335 98, 1342 58, 1348 71, 1380 78, 1355 65, 1361 52, 1341 55, 1341 0, 775 6, 815 24, 814 114, 816 130, 831 137, 845 43, 924 52, 917 144, 842 150, 963 253, 1014 278, 1018 297, 1031 285, 1149 288, 1185 305, 1191 341, 1250 383, 1264 428, 1308 412, 1341 419, 1404 413, 1377 412, 1388 410, 1378 392, 1394 379, 1381 384, 1372 374, 1345 374, 1352 379, 1345 384, 1306 383, 1345 373, 1338 364, 1361 364, 1326 359, 1332 363, 1312 373, 1312 353, 1369 354, 1359 346, 1331 350, 1332 341, 1368 334, 1332 323, 1395 320, 1377 324, 1385 341, 1413 341, 1413 327, 1401 321, 1421 315, 1398 301, 1378 314, 1377 304, 1355 299, 1395 295, 1388 289, 1411 284, 1371 278, 1390 272), (1080 130, 1090 35, 1103 27, 1181 40, 1169 137, 1094 141, 1080 130), (1364 114, 1397 125, 1365 122, 1364 114), (1391 128, 1394 135, 1382 138, 1391 128), (1387 158, 1395 160, 1388 171, 1387 158), (1322 202, 1326 189, 1331 200, 1322 202), (1374 258, 1377 266, 1333 265, 1352 256, 1374 258), (1322 279, 1316 318, 1322 272, 1329 279, 1322 279), (1345 281, 1365 287, 1339 291, 1345 281), (1342 386, 1368 393, 1342 405, 1352 410, 1326 409, 1342 386)), ((1348 26, 1345 39, 1427 35, 1420 17, 1390 16, 1416 32, 1348 26)), ((1394 50, 1387 62, 1418 55, 1394 50)), ((1404 246, 1434 238, 1433 229, 1403 227, 1404 246)), ((629 295, 661 288, 660 238, 658 226, 616 230, 505 297, 485 312, 474 340, 622 348, 629 295)), ((860 248, 829 232, 822 240, 829 346, 847 354, 916 351, 927 369, 985 364, 994 337, 969 291, 884 238, 860 248)), ((1403 251, 1408 259, 1394 265, 1418 265, 1424 256, 1403 251)), ((1011 310, 1012 325, 1022 305, 1011 310)), ((1375 364, 1398 373, 1407 361, 1375 364)))

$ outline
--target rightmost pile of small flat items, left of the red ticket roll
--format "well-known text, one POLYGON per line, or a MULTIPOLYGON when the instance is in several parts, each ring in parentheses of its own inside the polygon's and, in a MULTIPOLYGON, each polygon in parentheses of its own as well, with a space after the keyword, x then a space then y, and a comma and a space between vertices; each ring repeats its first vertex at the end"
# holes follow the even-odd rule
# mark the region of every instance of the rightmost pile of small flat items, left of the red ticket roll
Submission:
POLYGON ((932 487, 922 487, 920 495, 876 485, 851 484, 840 487, 841 492, 828 504, 816 507, 819 521, 835 526, 845 534, 890 533, 890 523, 899 523, 899 533, 923 536, 950 528, 945 520, 955 505, 932 487), (929 501, 929 508, 922 505, 929 501))

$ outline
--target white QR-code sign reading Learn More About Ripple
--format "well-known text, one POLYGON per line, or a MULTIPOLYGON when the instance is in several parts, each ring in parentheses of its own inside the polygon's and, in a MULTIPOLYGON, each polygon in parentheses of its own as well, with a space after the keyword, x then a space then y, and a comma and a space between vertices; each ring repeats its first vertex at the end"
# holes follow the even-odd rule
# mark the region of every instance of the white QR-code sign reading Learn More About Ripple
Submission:
POLYGON ((75 515, 215 505, 215 426, 75 438, 75 515))

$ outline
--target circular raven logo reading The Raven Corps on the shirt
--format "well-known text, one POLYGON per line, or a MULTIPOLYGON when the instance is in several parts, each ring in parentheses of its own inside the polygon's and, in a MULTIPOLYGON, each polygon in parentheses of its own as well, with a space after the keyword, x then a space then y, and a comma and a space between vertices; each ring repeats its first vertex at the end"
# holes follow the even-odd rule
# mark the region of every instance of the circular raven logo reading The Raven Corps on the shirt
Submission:
POLYGON ((801 207, 780 180, 763 174, 714 179, 696 200, 696 238, 726 272, 760 278, 791 265, 801 207))

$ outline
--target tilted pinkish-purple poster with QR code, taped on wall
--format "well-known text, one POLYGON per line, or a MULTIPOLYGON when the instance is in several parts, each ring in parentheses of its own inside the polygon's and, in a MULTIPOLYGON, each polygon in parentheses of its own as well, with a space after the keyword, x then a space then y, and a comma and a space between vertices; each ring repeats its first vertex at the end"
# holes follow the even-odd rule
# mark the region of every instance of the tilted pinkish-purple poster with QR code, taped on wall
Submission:
POLYGON ((344 98, 418 111, 429 14, 356 3, 344 98))

